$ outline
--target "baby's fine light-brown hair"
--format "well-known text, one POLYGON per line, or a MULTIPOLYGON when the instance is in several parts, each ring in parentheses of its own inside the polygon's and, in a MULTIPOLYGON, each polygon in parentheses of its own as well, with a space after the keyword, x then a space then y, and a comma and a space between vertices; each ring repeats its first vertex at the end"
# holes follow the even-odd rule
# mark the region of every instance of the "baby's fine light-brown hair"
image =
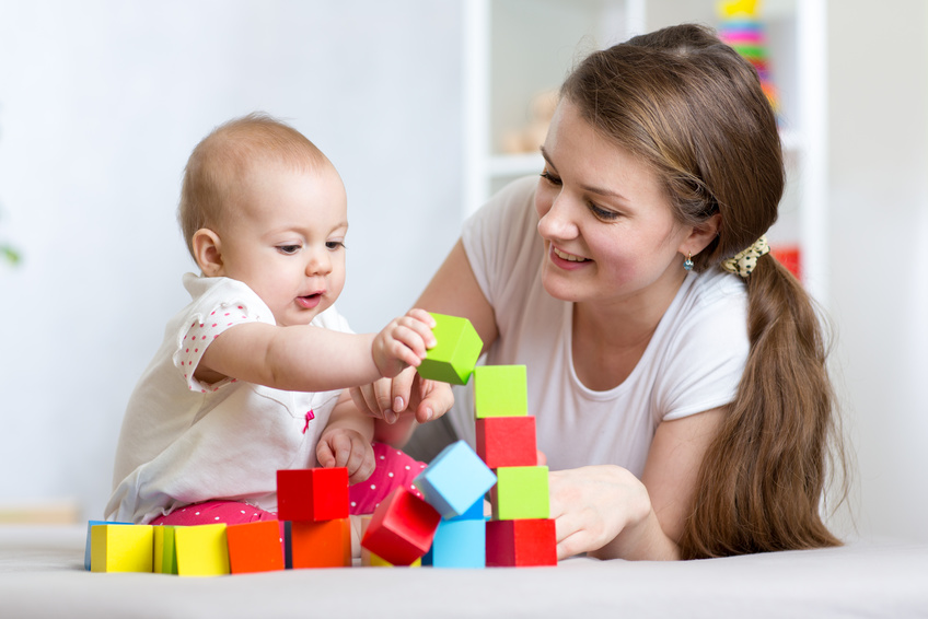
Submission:
POLYGON ((234 184, 256 163, 268 162, 298 172, 332 165, 305 136, 263 112, 220 125, 196 145, 184 168, 177 207, 177 221, 190 256, 194 234, 222 220, 234 184))

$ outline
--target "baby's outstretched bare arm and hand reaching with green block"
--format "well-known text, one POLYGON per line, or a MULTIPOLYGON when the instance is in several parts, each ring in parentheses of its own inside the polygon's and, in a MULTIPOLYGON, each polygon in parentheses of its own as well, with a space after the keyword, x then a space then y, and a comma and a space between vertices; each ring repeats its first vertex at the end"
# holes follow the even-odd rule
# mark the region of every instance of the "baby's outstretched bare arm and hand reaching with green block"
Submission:
POLYGON ((292 392, 343 389, 418 366, 426 348, 434 344, 432 326, 421 310, 396 318, 376 336, 245 323, 210 343, 195 376, 205 383, 228 376, 292 392))

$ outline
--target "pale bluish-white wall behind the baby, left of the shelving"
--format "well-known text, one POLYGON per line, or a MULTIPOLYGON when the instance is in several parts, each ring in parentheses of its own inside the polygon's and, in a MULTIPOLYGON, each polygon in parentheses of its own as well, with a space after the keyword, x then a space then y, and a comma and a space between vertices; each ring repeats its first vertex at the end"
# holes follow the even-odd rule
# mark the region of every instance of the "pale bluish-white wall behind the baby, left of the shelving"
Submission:
POLYGON ((456 238, 461 7, 431 0, 0 2, 0 503, 98 517, 125 402, 188 300, 186 157, 254 109, 348 190, 356 330, 405 312, 456 238), (130 313, 132 317, 130 318, 130 313))

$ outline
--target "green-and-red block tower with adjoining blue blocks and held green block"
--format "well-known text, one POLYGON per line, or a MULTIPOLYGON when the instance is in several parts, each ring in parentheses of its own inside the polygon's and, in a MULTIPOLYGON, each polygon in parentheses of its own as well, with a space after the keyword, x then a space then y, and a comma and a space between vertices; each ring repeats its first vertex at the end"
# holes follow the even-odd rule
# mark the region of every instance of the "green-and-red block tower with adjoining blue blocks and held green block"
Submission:
MULTIPOLYGON (((433 567, 557 564, 549 518, 548 469, 537 464, 524 365, 476 366, 483 342, 465 318, 432 314, 437 346, 419 366, 425 378, 465 385, 474 376, 476 452, 460 441, 416 479, 441 516, 424 561, 433 567), (491 517, 483 515, 490 491, 491 517), (476 550, 475 550, 476 549, 476 550), (482 554, 482 556, 480 556, 482 554)), ((376 514, 374 515, 376 518, 376 514)), ((368 538, 362 546, 368 546, 368 538)))

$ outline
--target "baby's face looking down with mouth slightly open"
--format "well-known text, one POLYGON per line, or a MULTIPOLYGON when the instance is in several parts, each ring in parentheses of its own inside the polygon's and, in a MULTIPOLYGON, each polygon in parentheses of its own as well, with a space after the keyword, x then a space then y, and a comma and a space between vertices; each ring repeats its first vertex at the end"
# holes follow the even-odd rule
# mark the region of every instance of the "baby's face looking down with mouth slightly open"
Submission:
POLYGON ((308 325, 345 285, 348 207, 338 173, 263 164, 237 190, 219 233, 219 275, 248 284, 278 325, 308 325))

